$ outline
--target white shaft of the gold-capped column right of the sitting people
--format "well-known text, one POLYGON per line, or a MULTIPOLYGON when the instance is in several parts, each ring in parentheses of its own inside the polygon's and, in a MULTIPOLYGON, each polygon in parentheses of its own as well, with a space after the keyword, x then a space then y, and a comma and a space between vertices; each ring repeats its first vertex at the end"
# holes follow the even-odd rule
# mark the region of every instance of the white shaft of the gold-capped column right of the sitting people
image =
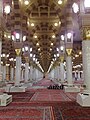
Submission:
POLYGON ((71 56, 67 56, 66 65, 67 65, 67 81, 68 81, 68 84, 71 85, 73 84, 72 83, 72 58, 71 56))

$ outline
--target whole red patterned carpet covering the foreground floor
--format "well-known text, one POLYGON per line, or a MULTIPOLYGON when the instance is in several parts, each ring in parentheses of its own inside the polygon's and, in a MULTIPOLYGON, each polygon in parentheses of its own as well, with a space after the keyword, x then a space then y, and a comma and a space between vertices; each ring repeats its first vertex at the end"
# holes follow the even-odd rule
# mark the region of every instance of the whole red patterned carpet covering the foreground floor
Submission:
POLYGON ((0 120, 90 120, 90 108, 81 107, 77 93, 37 89, 9 93, 13 102, 0 107, 0 120))

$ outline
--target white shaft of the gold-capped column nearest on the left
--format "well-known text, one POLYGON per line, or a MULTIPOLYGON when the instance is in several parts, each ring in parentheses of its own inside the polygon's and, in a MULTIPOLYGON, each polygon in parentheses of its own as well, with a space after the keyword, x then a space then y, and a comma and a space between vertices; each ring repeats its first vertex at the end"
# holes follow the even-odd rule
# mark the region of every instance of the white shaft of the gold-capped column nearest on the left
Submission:
POLYGON ((21 57, 16 57, 15 85, 19 85, 21 80, 21 57))

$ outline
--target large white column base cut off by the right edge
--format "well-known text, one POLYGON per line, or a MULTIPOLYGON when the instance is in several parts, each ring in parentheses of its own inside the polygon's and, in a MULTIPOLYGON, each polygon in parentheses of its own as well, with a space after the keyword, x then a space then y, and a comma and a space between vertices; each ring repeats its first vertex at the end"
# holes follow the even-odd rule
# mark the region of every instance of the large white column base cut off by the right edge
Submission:
POLYGON ((78 93, 76 102, 83 107, 90 107, 90 91, 78 93))

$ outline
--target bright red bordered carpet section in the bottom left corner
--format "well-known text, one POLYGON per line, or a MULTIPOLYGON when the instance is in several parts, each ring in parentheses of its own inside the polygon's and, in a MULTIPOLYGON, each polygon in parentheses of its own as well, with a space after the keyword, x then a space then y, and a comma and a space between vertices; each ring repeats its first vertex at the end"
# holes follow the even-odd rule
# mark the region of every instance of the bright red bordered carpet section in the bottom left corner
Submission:
POLYGON ((50 107, 1 107, 0 120, 51 120, 50 107))

